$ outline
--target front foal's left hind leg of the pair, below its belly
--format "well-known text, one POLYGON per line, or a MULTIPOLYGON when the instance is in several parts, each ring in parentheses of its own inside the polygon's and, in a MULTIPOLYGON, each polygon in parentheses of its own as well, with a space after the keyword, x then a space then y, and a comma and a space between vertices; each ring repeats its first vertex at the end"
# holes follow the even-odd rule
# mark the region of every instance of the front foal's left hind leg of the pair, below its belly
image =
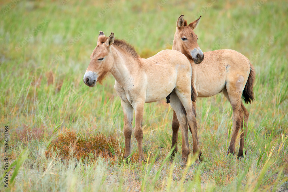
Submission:
MULTIPOLYGON (((190 98, 191 99, 191 98, 190 98)), ((182 163, 187 163, 187 158, 189 155, 189 141, 188 141, 188 127, 187 127, 187 117, 184 108, 182 107, 181 101, 175 93, 170 96, 170 105, 177 115, 181 127, 182 134, 182 163)))

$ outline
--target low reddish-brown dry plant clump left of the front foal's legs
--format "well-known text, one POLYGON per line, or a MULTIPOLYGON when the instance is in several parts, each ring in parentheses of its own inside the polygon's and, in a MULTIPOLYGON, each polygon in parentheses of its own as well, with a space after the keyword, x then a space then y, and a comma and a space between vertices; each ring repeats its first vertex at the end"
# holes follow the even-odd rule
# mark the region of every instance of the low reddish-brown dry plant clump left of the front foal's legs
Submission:
POLYGON ((75 134, 75 132, 67 130, 60 134, 55 140, 52 140, 46 156, 56 153, 64 158, 71 159, 89 159, 96 160, 102 156, 104 159, 110 159, 113 163, 117 158, 121 158, 120 146, 115 136, 105 137, 103 134, 96 136, 83 136, 75 134), (91 155, 93 154, 93 155, 91 155))

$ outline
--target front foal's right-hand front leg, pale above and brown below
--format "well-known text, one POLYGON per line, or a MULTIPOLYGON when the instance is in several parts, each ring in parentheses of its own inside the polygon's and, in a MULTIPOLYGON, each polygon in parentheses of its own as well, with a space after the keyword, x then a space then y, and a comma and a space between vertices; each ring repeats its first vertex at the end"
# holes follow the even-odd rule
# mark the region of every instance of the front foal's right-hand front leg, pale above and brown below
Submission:
POLYGON ((144 113, 144 103, 145 101, 138 100, 133 102, 133 108, 135 110, 135 129, 134 135, 137 140, 138 150, 139 150, 139 159, 144 159, 144 153, 142 148, 143 140, 143 130, 142 130, 142 121, 144 113))

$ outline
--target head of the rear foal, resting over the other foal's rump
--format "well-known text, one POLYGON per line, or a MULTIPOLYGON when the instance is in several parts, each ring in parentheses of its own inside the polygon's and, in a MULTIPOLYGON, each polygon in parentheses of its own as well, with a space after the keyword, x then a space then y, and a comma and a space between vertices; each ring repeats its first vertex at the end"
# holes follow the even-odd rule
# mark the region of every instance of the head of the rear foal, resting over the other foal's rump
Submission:
POLYGON ((204 54, 197 43, 197 35, 194 33, 201 16, 187 25, 187 21, 181 15, 177 21, 176 33, 174 37, 173 47, 176 46, 188 59, 193 60, 196 64, 200 64, 204 59, 204 54))

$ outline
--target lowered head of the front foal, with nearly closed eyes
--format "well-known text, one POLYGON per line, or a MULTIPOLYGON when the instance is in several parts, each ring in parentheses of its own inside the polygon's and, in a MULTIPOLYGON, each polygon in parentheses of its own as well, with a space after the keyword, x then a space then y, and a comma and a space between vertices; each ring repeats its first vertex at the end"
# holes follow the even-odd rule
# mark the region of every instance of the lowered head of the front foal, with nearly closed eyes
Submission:
POLYGON ((96 82, 101 83, 105 75, 111 70, 113 65, 113 55, 111 45, 114 42, 114 33, 107 38, 100 31, 97 46, 92 52, 90 64, 83 77, 83 81, 89 87, 94 87, 96 82))

